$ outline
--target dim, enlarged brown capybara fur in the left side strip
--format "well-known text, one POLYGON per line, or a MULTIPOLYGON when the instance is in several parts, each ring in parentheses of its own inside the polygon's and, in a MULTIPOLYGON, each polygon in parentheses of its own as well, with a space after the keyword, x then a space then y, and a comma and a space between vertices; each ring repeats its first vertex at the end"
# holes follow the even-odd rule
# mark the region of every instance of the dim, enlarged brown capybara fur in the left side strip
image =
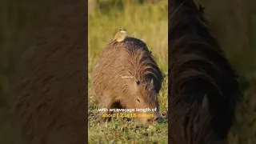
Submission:
POLYGON ((86 1, 51 4, 11 77, 14 144, 88 142, 86 1))

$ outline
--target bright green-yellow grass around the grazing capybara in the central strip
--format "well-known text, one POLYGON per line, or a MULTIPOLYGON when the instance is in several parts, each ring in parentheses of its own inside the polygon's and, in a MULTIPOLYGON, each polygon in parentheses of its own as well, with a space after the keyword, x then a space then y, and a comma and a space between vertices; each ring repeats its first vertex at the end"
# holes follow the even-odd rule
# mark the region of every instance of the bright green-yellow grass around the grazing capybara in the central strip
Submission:
MULTIPOLYGON (((128 1, 124 1, 128 2, 128 1)), ((88 16, 88 70, 90 74, 106 43, 114 34, 125 27, 130 36, 141 39, 152 51, 161 70, 168 69, 168 14, 167 1, 159 3, 122 3, 122 1, 104 1, 99 8, 88 16)), ((167 110, 167 79, 159 94, 160 109, 167 110)), ((90 143, 167 143, 167 122, 154 126, 142 126, 138 123, 113 120, 109 123, 95 124, 93 116, 98 107, 90 97, 89 91, 89 142, 90 143)))

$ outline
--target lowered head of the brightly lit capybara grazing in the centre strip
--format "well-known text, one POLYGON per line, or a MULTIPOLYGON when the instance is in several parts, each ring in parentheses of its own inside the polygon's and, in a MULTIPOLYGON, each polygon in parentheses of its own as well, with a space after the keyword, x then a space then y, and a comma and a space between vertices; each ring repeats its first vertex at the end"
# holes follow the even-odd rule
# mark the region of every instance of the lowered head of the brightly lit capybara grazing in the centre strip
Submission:
POLYGON ((143 124, 158 122, 158 118, 160 118, 158 114, 158 93, 154 89, 154 80, 133 81, 131 93, 132 100, 126 104, 127 107, 135 109, 135 122, 142 122, 143 124))

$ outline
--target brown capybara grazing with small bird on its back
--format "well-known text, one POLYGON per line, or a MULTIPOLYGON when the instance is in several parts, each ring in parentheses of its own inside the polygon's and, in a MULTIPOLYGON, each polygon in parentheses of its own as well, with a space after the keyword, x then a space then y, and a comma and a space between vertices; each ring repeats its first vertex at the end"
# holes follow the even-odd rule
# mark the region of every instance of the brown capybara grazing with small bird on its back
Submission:
MULTIPOLYGON (((137 38, 125 42, 112 42, 106 46, 92 74, 93 94, 102 108, 146 109, 132 112, 151 114, 150 117, 134 118, 144 124, 158 120, 158 92, 162 87, 163 74, 154 61, 146 44, 137 38), (157 108, 156 111, 152 109, 157 108), (153 116, 154 115, 154 116, 153 116)), ((98 114, 98 120, 102 118, 98 114)))

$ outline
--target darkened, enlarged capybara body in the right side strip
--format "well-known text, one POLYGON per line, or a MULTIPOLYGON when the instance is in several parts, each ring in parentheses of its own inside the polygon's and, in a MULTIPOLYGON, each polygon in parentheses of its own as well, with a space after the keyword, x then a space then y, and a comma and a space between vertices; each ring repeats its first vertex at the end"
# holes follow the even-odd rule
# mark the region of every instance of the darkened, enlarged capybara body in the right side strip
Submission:
MULTIPOLYGON (((190 111, 194 113, 202 105, 202 99, 207 97, 210 126, 213 133, 224 140, 233 125, 235 109, 242 93, 238 75, 211 36, 203 11, 202 6, 198 8, 193 0, 170 1, 169 102, 170 106, 180 106, 182 103, 192 105, 190 111)), ((186 106, 175 110, 182 113, 186 106)), ((170 109, 171 113, 173 110, 170 109)), ((174 122, 171 117, 169 122, 174 122)), ((170 124, 176 125, 178 123, 170 124)), ((169 134, 174 134, 171 127, 169 130, 169 134)))

